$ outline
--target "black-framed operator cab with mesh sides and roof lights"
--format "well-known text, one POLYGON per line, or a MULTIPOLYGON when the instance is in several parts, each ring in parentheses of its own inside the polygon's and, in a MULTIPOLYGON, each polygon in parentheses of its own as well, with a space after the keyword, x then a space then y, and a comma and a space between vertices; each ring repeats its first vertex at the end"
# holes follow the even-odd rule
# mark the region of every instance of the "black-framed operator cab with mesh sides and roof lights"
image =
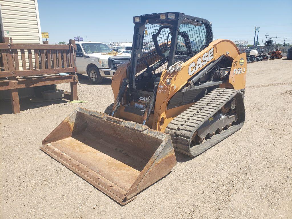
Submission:
POLYGON ((152 92, 165 69, 187 61, 212 41, 211 25, 201 18, 170 12, 133 19, 131 69, 127 72, 132 92, 152 92))

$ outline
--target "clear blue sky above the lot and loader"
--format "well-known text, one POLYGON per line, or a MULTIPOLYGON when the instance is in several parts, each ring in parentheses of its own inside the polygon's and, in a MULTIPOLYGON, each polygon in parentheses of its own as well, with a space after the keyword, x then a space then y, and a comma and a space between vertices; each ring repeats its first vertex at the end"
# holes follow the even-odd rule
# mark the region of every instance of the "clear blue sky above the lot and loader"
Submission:
POLYGON ((132 41, 133 16, 149 13, 182 12, 212 22, 214 39, 248 40, 253 43, 254 27, 260 27, 277 43, 292 44, 292 0, 282 1, 92 1, 38 0, 41 31, 49 42, 68 42, 81 36, 84 41, 104 43, 132 41))

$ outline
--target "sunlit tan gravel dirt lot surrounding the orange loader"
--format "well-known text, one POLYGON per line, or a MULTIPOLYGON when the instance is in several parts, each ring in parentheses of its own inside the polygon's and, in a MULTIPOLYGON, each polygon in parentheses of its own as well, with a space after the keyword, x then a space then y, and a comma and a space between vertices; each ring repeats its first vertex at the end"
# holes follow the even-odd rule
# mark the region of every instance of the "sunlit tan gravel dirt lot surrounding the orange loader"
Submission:
POLYGON ((126 206, 39 150, 77 106, 103 112, 110 79, 79 77, 87 103, 21 101, 13 115, 0 102, 0 218, 292 218, 291 69, 286 59, 248 64, 243 128, 196 158, 177 153, 172 172, 126 206))

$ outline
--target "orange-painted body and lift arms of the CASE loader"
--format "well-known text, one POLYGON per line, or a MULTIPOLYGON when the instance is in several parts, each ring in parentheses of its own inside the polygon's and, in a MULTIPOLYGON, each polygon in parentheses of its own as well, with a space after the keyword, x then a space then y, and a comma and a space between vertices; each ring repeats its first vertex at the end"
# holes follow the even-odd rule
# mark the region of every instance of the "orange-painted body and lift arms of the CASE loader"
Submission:
MULTIPOLYGON (((150 119, 146 122, 146 125, 154 130, 164 132, 166 126, 171 120, 173 120, 173 118, 193 105, 194 103, 190 103, 188 105, 175 107, 173 109, 167 109, 167 103, 173 95, 180 91, 180 89, 187 84, 191 77, 194 77, 196 73, 212 61, 217 60, 221 55, 226 55, 230 60, 232 60, 232 68, 228 81, 221 84, 220 88, 244 90, 246 83, 246 53, 240 53, 237 46, 230 40, 215 40, 197 55, 184 62, 179 72, 169 74, 165 70, 162 73, 159 88, 157 89, 154 114, 151 114, 150 119), (171 80, 170 85, 166 84, 167 79, 171 80)), ((119 93, 119 88, 122 81, 126 77, 128 65, 129 63, 122 65, 117 70, 114 77, 112 77, 112 90, 115 99, 119 93)), ((141 104, 141 102, 133 102, 132 105, 135 103, 141 104)), ((121 105, 114 116, 142 124, 142 116, 125 112, 124 109, 125 107, 121 105)))

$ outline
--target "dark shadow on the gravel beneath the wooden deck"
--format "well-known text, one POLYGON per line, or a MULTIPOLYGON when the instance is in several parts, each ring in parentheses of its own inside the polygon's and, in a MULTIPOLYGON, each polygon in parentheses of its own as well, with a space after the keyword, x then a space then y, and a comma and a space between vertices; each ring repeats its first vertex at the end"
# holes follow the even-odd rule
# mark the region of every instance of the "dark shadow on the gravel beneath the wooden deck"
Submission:
MULTIPOLYGON (((69 100, 54 100, 54 101, 47 101, 47 102, 30 102, 30 98, 20 99, 20 113, 21 111, 28 110, 28 109, 35 109, 44 106, 49 106, 52 104, 60 104, 60 103, 67 103, 69 100)), ((11 109, 11 101, 10 100, 0 100, 0 115, 1 114, 12 114, 11 109)))

